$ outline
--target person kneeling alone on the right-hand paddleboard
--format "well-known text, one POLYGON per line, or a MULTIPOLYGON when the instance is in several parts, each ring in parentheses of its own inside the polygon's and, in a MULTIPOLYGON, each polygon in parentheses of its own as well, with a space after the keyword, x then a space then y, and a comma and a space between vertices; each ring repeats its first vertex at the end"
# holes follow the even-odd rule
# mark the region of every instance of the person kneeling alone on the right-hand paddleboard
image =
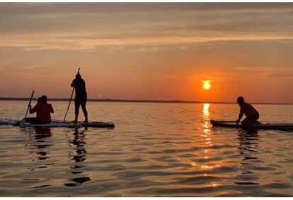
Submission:
POLYGON ((238 119, 235 121, 236 124, 239 124, 241 118, 243 117, 243 114, 246 115, 246 118, 243 119, 241 124, 245 125, 245 124, 255 124, 255 123, 257 123, 258 118, 260 117, 260 115, 258 114, 258 111, 255 110, 255 108, 252 105, 250 105, 249 103, 244 102, 243 97, 237 98, 237 102, 238 102, 238 104, 240 106, 240 112, 239 112, 238 119))

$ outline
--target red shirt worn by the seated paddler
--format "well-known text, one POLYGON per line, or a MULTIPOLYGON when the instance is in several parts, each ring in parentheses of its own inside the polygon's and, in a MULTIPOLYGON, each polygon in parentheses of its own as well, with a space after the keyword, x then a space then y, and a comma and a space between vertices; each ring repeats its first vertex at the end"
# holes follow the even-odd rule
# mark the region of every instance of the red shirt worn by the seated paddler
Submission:
POLYGON ((37 119, 39 122, 51 122, 51 112, 54 113, 53 107, 48 103, 40 103, 35 105, 30 110, 30 114, 37 112, 37 119))

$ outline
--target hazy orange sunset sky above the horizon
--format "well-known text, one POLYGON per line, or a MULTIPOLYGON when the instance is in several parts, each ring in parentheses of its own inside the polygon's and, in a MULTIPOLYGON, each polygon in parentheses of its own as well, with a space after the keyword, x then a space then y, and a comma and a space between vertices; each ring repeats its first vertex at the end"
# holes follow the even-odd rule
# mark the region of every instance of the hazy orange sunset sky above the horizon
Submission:
POLYGON ((0 3, 0 97, 79 67, 88 98, 293 103, 293 3, 0 3))

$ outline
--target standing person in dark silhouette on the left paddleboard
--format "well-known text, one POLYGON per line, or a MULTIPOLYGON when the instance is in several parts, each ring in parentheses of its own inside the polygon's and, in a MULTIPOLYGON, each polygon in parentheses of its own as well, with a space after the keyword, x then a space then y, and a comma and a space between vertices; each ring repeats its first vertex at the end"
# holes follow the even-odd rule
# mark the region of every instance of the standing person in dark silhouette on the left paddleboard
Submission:
POLYGON ((71 87, 75 88, 75 119, 72 122, 78 122, 77 119, 79 118, 79 107, 81 106, 81 109, 84 112, 85 117, 84 122, 88 123, 88 111, 86 110, 86 82, 84 81, 84 79, 81 78, 81 75, 79 73, 76 74, 75 79, 71 83, 71 87))

